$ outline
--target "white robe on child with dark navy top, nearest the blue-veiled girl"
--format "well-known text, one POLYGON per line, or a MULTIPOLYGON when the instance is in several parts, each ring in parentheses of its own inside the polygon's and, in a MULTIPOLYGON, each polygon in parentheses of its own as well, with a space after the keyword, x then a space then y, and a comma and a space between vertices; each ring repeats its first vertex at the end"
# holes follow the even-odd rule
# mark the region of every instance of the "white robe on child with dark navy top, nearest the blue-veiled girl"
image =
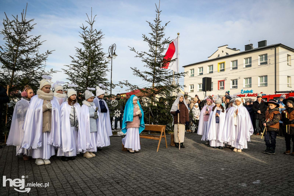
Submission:
POLYGON ((98 107, 98 120, 97 120, 97 147, 105 147, 110 145, 109 136, 112 135, 109 109, 106 102, 103 99, 95 97, 93 100, 96 107, 98 107), (103 102, 107 109, 107 112, 101 112, 99 102, 103 102))

